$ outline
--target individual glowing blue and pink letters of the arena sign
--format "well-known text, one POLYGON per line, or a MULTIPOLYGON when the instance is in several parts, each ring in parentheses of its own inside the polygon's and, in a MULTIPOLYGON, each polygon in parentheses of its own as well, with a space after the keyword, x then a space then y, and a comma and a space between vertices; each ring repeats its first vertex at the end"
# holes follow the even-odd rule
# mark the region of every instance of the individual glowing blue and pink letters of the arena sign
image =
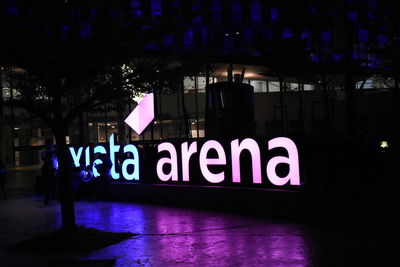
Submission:
MULTIPOLYGON (((271 181, 272 184, 277 186, 285 185, 289 181, 290 185, 300 185, 299 159, 295 143, 286 137, 278 137, 268 142, 268 150, 272 150, 278 147, 286 149, 288 156, 276 156, 271 158, 267 162, 263 162, 263 164, 266 164, 267 178, 271 181), (285 177, 280 177, 277 174, 276 169, 279 164, 286 164, 289 167, 288 174, 285 177)), ((228 152, 225 152, 224 147, 215 140, 206 141, 200 148, 198 148, 197 141, 191 143, 183 142, 177 146, 173 145, 172 143, 165 142, 159 144, 157 149, 158 153, 164 154, 164 157, 161 157, 160 155, 156 163, 157 176, 160 181, 189 182, 191 180, 190 168, 193 165, 190 164, 190 160, 192 159, 193 155, 196 155, 195 158, 196 164, 198 164, 197 167, 200 167, 201 176, 207 182, 211 184, 223 182, 225 180, 225 171, 227 171, 227 168, 231 168, 232 180, 229 182, 236 184, 242 183, 242 166, 240 163, 240 159, 242 152, 244 150, 247 150, 247 152, 250 153, 251 156, 252 177, 250 179, 253 184, 262 184, 262 170, 264 167, 261 166, 261 150, 259 144, 254 139, 246 138, 241 142, 239 142, 239 139, 235 139, 230 143, 229 147, 226 147, 226 149, 228 149, 228 152), (178 151, 179 149, 180 151, 178 151), (199 153, 198 161, 197 153, 199 153), (226 153, 228 153, 228 155, 231 155, 231 166, 229 167, 226 166, 226 153), (178 159, 180 160, 180 162, 178 162, 178 159), (210 167, 210 165, 220 165, 219 170, 221 171, 217 172, 215 168, 210 167), (180 174, 182 175, 181 178, 179 176, 180 174)), ((104 159, 107 159, 108 156, 101 156, 101 158, 96 158, 96 156, 91 155, 92 152, 94 154, 104 155, 107 155, 109 153, 110 159, 107 159, 107 161, 110 162, 111 168, 108 169, 110 170, 110 175, 113 179, 117 180, 122 178, 128 181, 139 180, 139 151, 132 144, 128 144, 122 147, 121 145, 116 144, 114 134, 110 136, 108 149, 103 146, 96 146, 93 150, 91 147, 85 147, 85 149, 83 147, 70 147, 69 150, 74 165, 76 167, 80 167, 81 158, 83 157, 82 161, 85 161, 85 166, 87 169, 88 167, 90 167, 91 160, 93 160, 94 158, 91 167, 94 177, 100 176, 100 173, 97 170, 97 166, 107 163, 103 161, 104 159), (121 149, 126 155, 124 158, 120 158, 122 160, 121 171, 117 172, 117 155, 119 155, 121 149), (83 154, 85 155, 83 156, 83 154)), ((196 168, 196 170, 198 169, 196 168)))

